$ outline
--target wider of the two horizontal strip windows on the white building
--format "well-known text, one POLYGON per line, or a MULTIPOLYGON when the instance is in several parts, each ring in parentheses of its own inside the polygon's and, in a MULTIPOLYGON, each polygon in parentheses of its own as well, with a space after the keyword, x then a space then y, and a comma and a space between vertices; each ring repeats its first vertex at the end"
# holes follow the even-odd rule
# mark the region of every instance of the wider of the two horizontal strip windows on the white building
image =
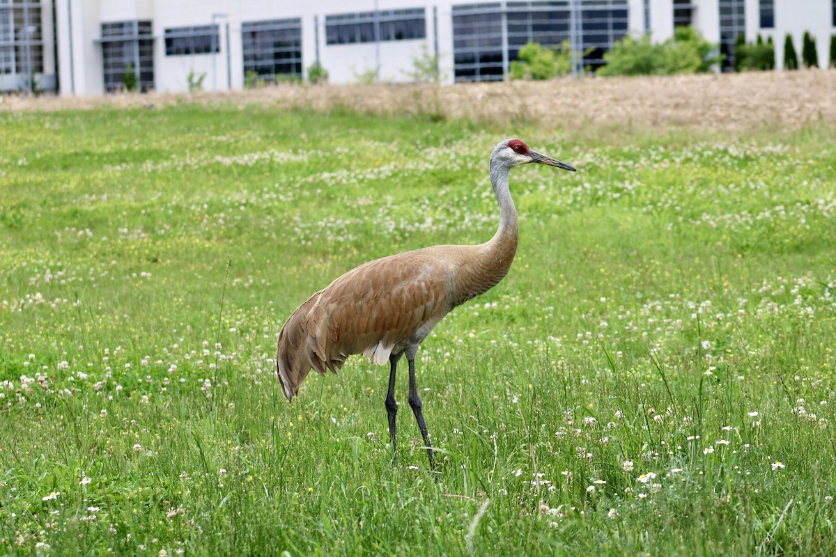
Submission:
POLYGON ((351 44, 426 38, 424 8, 325 16, 325 43, 351 44))

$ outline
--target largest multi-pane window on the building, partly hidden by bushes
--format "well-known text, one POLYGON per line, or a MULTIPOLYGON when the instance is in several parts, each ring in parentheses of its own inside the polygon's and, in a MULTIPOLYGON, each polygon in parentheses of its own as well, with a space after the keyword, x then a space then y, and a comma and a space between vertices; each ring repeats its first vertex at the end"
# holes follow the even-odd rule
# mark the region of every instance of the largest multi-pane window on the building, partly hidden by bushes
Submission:
POLYGON ((558 47, 568 41, 579 69, 594 71, 628 28, 627 0, 553 0, 453 6, 456 81, 502 79, 526 43, 558 47), (503 25, 504 20, 504 25, 503 25), (503 53, 502 45, 507 44, 503 53))

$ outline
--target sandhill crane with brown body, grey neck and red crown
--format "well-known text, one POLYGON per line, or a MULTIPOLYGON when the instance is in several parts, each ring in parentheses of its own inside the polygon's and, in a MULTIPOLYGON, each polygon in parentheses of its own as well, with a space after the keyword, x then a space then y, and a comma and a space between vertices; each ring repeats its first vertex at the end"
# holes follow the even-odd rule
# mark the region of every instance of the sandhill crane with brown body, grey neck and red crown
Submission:
POLYGON ((276 367, 288 401, 311 369, 336 373, 346 358, 363 354, 389 362, 385 406, 395 456, 395 368, 406 355, 409 403, 430 467, 435 468, 421 398, 415 386, 415 354, 433 327, 454 307, 502 281, 517 251, 517 210, 508 171, 527 163, 574 169, 528 149, 519 139, 499 142, 491 154, 491 184, 499 205, 499 228, 478 246, 431 246, 369 261, 340 276, 293 311, 278 335, 276 367))

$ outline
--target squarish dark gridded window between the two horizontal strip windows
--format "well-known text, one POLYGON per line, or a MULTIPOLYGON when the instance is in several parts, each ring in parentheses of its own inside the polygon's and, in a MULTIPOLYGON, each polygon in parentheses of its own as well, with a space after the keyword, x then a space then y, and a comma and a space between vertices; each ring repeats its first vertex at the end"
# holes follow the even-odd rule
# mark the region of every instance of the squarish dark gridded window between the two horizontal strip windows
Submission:
POLYGON ((279 75, 302 76, 302 20, 274 19, 242 23, 244 75, 273 81, 279 75))

